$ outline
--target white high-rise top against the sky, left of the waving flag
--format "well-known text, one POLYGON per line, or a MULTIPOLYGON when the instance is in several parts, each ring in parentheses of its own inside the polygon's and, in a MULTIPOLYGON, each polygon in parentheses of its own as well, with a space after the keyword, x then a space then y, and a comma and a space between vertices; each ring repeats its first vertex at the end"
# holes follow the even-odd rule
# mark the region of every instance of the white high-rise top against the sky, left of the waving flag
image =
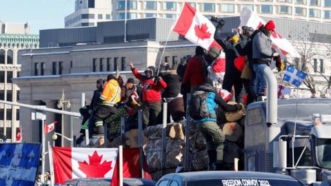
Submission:
POLYGON ((112 19, 112 1, 76 0, 74 12, 64 18, 66 28, 97 25, 97 22, 112 19))

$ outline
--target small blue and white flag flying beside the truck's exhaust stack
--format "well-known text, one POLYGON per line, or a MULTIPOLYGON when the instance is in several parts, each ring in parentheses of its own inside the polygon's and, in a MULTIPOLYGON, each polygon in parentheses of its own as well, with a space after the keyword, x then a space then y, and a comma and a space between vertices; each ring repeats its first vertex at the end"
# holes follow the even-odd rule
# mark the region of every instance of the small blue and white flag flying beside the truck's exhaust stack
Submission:
POLYGON ((294 66, 288 66, 284 72, 284 80, 296 87, 301 85, 305 76, 307 76, 305 72, 295 69, 294 66))

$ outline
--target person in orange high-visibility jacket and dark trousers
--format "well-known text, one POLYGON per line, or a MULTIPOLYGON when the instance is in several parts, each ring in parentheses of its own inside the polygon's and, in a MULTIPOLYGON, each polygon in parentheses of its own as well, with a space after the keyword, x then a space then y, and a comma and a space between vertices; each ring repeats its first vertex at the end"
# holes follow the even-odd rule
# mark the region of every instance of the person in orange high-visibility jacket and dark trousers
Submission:
POLYGON ((103 87, 100 99, 102 103, 100 103, 101 105, 94 116, 95 126, 97 127, 97 137, 103 136, 103 121, 116 112, 117 108, 115 104, 121 101, 121 87, 112 74, 107 76, 107 82, 103 87))

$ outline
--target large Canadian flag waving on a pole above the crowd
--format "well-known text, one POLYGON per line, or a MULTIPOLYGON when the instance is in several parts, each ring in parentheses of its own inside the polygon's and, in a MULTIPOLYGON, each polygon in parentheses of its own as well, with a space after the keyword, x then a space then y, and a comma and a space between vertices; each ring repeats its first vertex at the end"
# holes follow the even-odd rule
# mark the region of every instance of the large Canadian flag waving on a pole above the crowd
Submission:
POLYGON ((214 40, 215 27, 206 17, 185 2, 172 31, 177 32, 192 43, 209 50, 213 46, 221 49, 214 40))

